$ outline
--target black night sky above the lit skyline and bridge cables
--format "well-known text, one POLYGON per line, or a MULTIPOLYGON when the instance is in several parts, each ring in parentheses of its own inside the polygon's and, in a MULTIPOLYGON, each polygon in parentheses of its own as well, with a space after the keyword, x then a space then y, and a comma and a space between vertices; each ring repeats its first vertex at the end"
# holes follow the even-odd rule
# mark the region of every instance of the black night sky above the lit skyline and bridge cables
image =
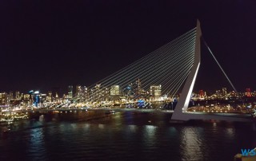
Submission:
MULTIPOLYGON (((238 91, 256 90, 256 1, 0 1, 0 92, 89 86, 196 26, 238 91)), ((202 45, 195 90, 230 88, 202 45)))

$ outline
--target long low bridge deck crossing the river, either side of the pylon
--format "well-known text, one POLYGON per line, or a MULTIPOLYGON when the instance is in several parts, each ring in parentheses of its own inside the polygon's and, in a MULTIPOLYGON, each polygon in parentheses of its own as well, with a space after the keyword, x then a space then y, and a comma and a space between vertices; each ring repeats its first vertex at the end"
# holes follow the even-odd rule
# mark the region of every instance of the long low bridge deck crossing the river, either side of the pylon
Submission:
MULTIPOLYGON (((73 111, 114 111, 114 112, 168 112, 173 113, 173 110, 164 109, 141 109, 141 108, 55 108, 55 109, 37 109, 33 110, 9 110, 6 112, 73 112, 73 111)), ((190 115, 190 120, 226 120, 226 121, 238 121, 238 122, 250 122, 253 121, 250 114, 239 113, 212 113, 212 112, 183 112, 183 115, 190 115)))

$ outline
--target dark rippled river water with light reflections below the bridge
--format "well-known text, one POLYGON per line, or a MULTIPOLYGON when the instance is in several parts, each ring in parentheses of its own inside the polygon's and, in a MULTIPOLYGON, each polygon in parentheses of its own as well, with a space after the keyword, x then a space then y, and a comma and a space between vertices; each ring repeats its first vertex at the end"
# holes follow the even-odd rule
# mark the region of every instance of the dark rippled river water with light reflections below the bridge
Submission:
POLYGON ((170 124, 170 113, 63 112, 1 125, 0 160, 234 160, 253 124, 170 124), (88 118, 94 118, 89 120, 88 118))

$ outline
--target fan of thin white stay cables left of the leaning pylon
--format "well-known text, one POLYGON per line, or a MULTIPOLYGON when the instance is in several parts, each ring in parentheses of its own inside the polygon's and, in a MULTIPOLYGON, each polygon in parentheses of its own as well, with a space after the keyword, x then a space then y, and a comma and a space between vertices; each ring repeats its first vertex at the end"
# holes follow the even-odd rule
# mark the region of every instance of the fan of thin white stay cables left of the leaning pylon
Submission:
MULTIPOLYGON (((150 85, 162 85, 162 93, 174 96, 186 77, 194 62, 194 44, 196 28, 170 41, 166 45, 154 50, 154 52, 142 57, 138 61, 127 65, 109 77, 89 86, 89 96, 86 100, 95 101, 106 88, 111 85, 119 85, 125 89, 135 79, 141 80, 141 89, 150 85), (96 89, 94 85, 100 84, 96 89), (94 90, 94 92, 91 92, 94 90)), ((100 96, 101 95, 101 96, 100 96)))

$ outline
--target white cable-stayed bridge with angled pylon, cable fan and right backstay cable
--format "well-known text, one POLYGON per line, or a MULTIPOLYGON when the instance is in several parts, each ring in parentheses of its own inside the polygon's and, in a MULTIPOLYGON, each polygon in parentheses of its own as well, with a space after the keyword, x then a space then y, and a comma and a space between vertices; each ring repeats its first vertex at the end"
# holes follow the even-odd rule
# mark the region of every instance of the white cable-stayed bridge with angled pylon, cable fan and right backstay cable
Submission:
MULTIPOLYGON (((83 95, 78 95, 73 100, 86 106, 97 107, 115 102, 120 104, 135 102, 138 105, 143 100, 154 102, 161 99, 170 101, 178 99, 172 120, 242 120, 238 117, 230 117, 229 114, 209 115, 187 112, 201 62, 201 41, 203 41, 202 31, 200 22, 197 22, 194 29, 190 29, 109 77, 90 85, 83 95), (181 92, 180 96, 178 92, 181 92)), ((210 51, 208 45, 206 46, 210 51)), ((210 53, 214 57, 211 51, 210 53)), ((222 69, 215 57, 214 60, 222 69)), ((222 73, 234 88, 223 69, 222 73)))

